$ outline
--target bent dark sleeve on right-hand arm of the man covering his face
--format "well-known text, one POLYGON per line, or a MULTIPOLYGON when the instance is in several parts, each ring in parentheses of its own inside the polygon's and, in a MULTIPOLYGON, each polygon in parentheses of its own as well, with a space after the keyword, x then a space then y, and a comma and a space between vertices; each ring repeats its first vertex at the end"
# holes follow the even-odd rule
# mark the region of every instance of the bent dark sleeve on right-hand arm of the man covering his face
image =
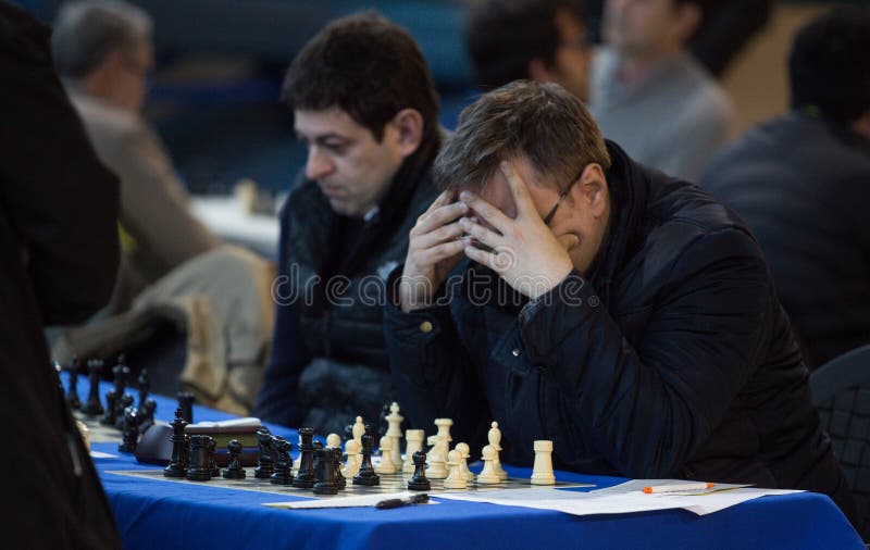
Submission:
MULTIPOLYGON (((736 230, 699 237, 632 346, 574 272, 521 320, 529 358, 558 385, 570 422, 622 475, 675 475, 753 374, 772 291, 760 251, 736 230)), ((535 410, 535 407, 530 407, 535 410)), ((570 437, 558 418, 543 422, 570 437)))

